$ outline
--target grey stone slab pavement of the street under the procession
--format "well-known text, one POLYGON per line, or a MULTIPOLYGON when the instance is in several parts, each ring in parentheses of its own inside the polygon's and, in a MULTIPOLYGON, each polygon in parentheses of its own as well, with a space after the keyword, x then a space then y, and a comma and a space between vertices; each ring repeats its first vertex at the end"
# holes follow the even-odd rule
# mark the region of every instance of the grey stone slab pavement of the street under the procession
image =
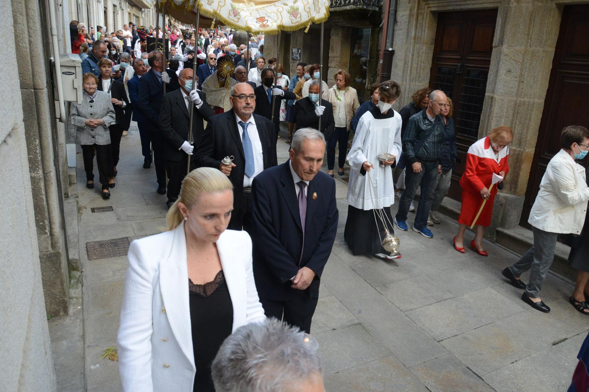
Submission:
MULTIPOLYGON (((286 134, 281 135, 279 162, 286 161, 288 148, 286 134)), ((117 363, 99 357, 116 345, 127 258, 88 260, 87 242, 134 240, 165 227, 166 196, 155 192, 153 165, 146 170, 142 164, 133 124, 121 141, 117 185, 110 200, 102 200, 100 186, 85 188, 78 154, 89 391, 120 390, 117 363), (91 212, 105 206, 113 211, 91 212)), ((355 257, 343 241, 347 184, 337 177, 338 233, 311 330, 320 344, 327 391, 567 389, 589 327, 587 317, 568 303, 573 287, 567 281, 549 274, 542 298, 552 311, 533 310, 501 275, 517 255, 488 241, 487 258, 471 250, 457 253, 452 248, 457 225, 448 218, 432 229, 431 239, 397 231, 403 254, 399 260, 355 257)), ((409 224, 414 216, 410 214, 409 224)), ((465 243, 472 237, 469 232, 465 243)))

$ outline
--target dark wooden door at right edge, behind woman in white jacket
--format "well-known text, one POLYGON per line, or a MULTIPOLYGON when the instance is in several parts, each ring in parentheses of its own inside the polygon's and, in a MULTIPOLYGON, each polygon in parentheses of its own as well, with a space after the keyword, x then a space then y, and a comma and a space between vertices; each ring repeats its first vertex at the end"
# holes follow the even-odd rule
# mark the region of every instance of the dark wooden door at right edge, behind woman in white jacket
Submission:
MULTIPOLYGON (((567 5, 562 21, 544 111, 538 129, 538 141, 530 170, 528 188, 520 224, 530 227, 528 217, 540 189, 546 166, 560 150, 560 135, 567 125, 589 127, 587 91, 589 91, 589 5, 567 5)), ((517 131, 524 131, 515 129, 517 131)), ((587 166, 589 159, 585 158, 587 166)))

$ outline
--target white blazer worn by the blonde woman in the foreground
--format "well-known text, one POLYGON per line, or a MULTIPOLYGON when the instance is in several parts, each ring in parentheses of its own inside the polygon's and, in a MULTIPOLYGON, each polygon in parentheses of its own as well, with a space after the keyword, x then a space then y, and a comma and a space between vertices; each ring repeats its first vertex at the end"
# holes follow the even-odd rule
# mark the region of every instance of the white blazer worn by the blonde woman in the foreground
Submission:
MULTIPOLYGON (((264 320, 252 271, 252 240, 226 230, 217 240, 233 304, 233 331, 264 320)), ((192 391, 196 366, 188 300, 184 222, 131 243, 118 328, 123 391, 192 391)))

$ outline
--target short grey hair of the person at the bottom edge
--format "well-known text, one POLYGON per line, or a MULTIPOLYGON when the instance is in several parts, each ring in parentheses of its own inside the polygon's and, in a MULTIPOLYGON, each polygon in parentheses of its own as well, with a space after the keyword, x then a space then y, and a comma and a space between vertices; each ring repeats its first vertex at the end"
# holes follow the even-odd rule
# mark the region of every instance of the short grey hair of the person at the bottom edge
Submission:
MULTIPOLYGON (((300 132, 297 131, 297 132, 300 132)), ((315 338, 276 318, 237 328, 211 365, 217 392, 282 392, 322 373, 315 338)))

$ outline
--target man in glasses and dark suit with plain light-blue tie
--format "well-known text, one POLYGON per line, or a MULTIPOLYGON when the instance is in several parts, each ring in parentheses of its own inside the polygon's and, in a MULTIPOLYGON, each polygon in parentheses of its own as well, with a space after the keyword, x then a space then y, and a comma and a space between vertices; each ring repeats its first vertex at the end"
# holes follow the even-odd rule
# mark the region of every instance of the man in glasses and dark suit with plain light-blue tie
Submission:
POLYGON ((230 230, 252 234, 252 181, 263 170, 276 166, 276 142, 269 119, 253 113, 256 95, 249 84, 231 87, 230 111, 210 118, 197 149, 196 166, 219 168, 233 183, 230 230), (231 165, 221 161, 233 155, 231 165))

